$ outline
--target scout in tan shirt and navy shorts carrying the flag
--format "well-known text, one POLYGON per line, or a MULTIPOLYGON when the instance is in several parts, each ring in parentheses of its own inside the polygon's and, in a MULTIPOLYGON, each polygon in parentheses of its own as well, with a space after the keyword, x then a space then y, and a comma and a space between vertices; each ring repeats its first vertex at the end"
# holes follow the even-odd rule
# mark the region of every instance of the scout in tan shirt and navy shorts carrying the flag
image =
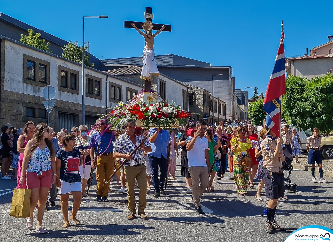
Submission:
POLYGON ((276 203, 279 197, 284 195, 284 175, 282 171, 282 162, 284 156, 282 153, 282 139, 278 138, 277 135, 265 125, 268 131, 266 138, 264 138, 260 144, 261 153, 263 157, 263 170, 266 197, 269 198, 267 204, 267 220, 265 223, 265 231, 272 233, 273 230, 284 230, 283 227, 279 226, 274 219, 276 211, 276 203))

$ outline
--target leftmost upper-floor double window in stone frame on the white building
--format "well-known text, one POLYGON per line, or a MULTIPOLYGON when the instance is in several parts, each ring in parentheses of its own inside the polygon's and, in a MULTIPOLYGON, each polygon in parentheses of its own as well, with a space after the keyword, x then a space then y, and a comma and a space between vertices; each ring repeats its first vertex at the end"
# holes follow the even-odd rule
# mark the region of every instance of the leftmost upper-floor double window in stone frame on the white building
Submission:
POLYGON ((50 84, 50 62, 23 54, 23 83, 39 87, 50 84))

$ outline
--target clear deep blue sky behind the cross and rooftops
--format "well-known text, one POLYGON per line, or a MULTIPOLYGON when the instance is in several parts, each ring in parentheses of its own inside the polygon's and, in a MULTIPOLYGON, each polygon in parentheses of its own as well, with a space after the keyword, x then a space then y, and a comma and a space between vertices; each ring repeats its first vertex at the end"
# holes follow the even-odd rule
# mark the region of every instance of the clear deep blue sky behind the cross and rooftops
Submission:
MULTIPOLYGON (((329 1, 31 1, 0 0, 0 12, 64 40, 85 40, 102 59, 142 55, 143 37, 125 29, 124 20, 144 21, 152 7, 153 23, 170 24, 155 40, 156 55, 175 54, 215 66, 232 66, 236 88, 258 87, 266 92, 277 52, 281 20, 285 55, 303 55, 333 35, 329 1), (18 7, 19 6, 19 7, 18 7)), ((249 96, 253 88, 247 89, 249 96)))

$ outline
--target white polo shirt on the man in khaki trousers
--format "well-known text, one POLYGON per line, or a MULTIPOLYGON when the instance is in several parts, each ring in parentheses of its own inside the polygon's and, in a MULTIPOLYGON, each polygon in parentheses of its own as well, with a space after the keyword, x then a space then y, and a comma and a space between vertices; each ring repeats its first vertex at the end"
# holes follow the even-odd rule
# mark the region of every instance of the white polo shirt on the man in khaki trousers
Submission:
MULTIPOLYGON (((193 137, 187 136, 186 143, 191 141, 193 137)), ((191 150, 187 151, 188 167, 190 166, 207 166, 205 150, 208 149, 208 140, 202 136, 198 136, 191 150)))

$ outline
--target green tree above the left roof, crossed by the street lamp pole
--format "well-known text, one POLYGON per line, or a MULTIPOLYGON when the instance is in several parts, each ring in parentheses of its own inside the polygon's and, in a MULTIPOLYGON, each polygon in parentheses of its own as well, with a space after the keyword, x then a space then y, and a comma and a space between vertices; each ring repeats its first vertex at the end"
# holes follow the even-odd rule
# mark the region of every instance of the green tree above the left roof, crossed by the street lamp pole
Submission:
MULTIPOLYGON (((64 47, 62 47, 64 54, 62 54, 62 57, 81 63, 82 64, 82 47, 81 46, 77 46, 78 42, 72 42, 71 40, 68 42, 67 45, 65 45, 64 47)), ((84 50, 87 50, 87 46, 84 47, 84 50)), ((93 67, 95 65, 95 63, 90 64, 89 63, 89 59, 90 59, 90 55, 89 53, 85 55, 84 57, 84 64, 86 66, 90 66, 93 67)))

